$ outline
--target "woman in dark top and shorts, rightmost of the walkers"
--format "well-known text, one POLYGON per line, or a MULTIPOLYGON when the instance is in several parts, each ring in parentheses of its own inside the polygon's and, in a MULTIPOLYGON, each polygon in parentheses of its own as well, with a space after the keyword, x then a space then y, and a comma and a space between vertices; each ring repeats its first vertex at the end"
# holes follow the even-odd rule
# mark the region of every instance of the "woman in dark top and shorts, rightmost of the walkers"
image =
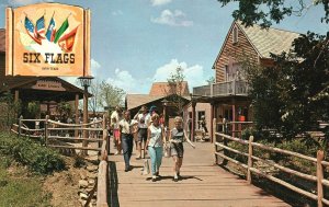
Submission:
POLYGON ((174 162, 173 166, 173 181, 178 182, 180 177, 180 170, 183 164, 183 156, 184 156, 184 147, 183 141, 186 139, 186 141, 195 148, 195 146, 192 143, 192 141, 189 139, 186 131, 183 129, 182 125, 182 117, 177 116, 174 117, 174 128, 170 131, 170 148, 171 148, 171 156, 174 162))

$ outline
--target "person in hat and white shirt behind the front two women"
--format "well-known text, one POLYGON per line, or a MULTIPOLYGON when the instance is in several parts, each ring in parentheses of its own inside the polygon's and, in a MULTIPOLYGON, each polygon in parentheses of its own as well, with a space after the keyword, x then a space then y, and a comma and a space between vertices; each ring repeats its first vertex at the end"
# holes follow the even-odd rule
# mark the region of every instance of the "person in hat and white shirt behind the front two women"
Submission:
POLYGON ((147 140, 147 128, 149 124, 149 114, 147 113, 147 107, 145 105, 141 106, 138 114, 134 117, 138 122, 138 134, 137 134, 137 141, 138 141, 138 153, 136 156, 136 159, 141 158, 141 149, 143 149, 143 158, 145 158, 145 143, 147 140), (143 148, 141 148, 143 146, 143 148))

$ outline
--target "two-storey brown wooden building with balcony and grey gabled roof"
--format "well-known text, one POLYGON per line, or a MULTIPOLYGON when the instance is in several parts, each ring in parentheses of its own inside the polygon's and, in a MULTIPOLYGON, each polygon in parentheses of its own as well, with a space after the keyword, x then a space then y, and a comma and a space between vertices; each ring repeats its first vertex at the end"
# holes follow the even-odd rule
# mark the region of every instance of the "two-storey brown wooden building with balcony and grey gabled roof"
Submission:
POLYGON ((193 88, 192 127, 195 126, 196 103, 211 103, 211 119, 218 120, 223 116, 230 122, 252 120, 251 100, 248 96, 249 88, 242 64, 271 66, 271 53, 288 51, 298 36, 298 33, 284 30, 262 30, 259 25, 245 27, 238 21, 232 22, 213 65, 215 83, 193 88))

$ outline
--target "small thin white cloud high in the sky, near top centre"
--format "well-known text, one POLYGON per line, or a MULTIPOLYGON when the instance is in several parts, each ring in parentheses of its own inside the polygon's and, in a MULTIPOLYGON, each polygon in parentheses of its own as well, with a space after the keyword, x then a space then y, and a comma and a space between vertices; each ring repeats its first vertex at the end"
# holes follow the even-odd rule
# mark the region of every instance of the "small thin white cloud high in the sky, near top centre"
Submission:
POLYGON ((185 13, 181 10, 163 10, 159 18, 151 18, 151 22, 156 24, 166 24, 170 26, 192 26, 193 21, 185 20, 185 13))

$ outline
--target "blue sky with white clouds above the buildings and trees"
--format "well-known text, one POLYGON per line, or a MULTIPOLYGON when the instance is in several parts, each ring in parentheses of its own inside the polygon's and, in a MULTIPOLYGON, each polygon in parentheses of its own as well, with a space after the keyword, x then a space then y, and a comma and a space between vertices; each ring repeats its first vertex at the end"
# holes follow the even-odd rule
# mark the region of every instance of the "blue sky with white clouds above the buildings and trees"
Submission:
MULTIPOLYGON (((52 1, 52 0, 47 0, 52 1)), ((306 0, 308 4, 311 0, 306 0)), ((5 7, 41 0, 0 0, 0 27, 5 7)), ((148 93, 155 81, 167 81, 178 66, 190 89, 214 77, 213 62, 232 22, 236 3, 224 8, 217 0, 58 0, 91 10, 91 68, 127 93, 148 93)), ((274 27, 326 34, 321 7, 303 16, 286 18, 274 27)), ((67 79, 75 82, 76 78, 67 79)))

